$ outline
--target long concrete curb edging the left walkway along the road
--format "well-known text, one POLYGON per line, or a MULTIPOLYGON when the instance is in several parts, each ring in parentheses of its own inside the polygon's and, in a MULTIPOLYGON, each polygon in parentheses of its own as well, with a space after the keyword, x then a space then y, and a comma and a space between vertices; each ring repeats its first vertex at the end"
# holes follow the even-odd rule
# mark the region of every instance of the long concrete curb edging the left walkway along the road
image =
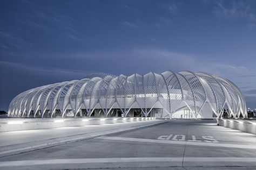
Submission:
MULTIPOLYGON (((149 121, 149 122, 151 122, 151 121, 149 121)), ((9 155, 23 153, 23 152, 39 150, 39 149, 46 148, 46 147, 58 146, 58 145, 63 145, 63 144, 71 143, 71 142, 75 142, 75 141, 96 138, 96 137, 104 136, 107 134, 118 133, 118 132, 123 132, 123 131, 130 131, 130 130, 139 129, 139 128, 145 128, 147 126, 152 126, 152 125, 165 123, 165 122, 166 121, 160 121, 157 123, 151 123, 151 124, 147 124, 147 125, 136 125, 132 128, 104 130, 104 131, 99 131, 99 132, 77 134, 75 136, 60 137, 60 138, 47 139, 47 140, 35 141, 35 142, 24 143, 24 144, 2 146, 2 147, 0 147, 0 158, 6 157, 9 155)))

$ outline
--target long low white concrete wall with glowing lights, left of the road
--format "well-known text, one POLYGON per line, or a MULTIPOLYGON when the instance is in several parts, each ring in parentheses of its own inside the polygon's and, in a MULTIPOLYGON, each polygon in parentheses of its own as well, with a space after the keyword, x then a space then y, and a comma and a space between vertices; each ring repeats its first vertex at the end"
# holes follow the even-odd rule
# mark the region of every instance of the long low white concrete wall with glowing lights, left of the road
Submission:
POLYGON ((151 121, 154 117, 111 117, 111 118, 4 118, 0 120, 0 132, 62 128, 70 126, 113 124, 124 122, 151 121))

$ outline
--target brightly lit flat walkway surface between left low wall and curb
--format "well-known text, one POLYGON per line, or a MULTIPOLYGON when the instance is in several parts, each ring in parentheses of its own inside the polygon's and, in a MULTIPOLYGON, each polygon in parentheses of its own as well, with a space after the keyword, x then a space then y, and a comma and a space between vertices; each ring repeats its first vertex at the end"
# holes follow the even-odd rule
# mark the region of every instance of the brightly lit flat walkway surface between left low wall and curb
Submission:
POLYGON ((28 143, 30 141, 40 141, 46 139, 54 139, 66 136, 75 136, 85 133, 93 133, 99 131, 109 131, 120 128, 130 128, 131 126, 147 125, 159 121, 142 121, 142 122, 126 122, 103 125, 86 125, 74 126, 66 128, 37 129, 24 131, 0 132, 0 147, 7 145, 15 145, 28 143), (47 134, 47 135, 45 135, 47 134))

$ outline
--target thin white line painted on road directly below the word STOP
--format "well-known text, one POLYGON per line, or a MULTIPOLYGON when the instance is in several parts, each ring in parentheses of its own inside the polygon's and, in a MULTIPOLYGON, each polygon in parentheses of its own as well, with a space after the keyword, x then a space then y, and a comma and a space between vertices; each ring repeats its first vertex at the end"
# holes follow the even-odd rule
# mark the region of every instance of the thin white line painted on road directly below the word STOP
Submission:
POLYGON ((110 136, 100 136, 100 137, 97 137, 96 139, 139 141, 139 142, 162 143, 162 144, 178 144, 178 145, 234 147, 234 148, 247 148, 247 149, 254 149, 254 150, 256 149, 256 145, 220 144, 220 143, 205 143, 205 142, 193 142, 193 141, 174 141, 174 140, 158 140, 158 139, 123 138, 123 137, 110 137, 110 136))

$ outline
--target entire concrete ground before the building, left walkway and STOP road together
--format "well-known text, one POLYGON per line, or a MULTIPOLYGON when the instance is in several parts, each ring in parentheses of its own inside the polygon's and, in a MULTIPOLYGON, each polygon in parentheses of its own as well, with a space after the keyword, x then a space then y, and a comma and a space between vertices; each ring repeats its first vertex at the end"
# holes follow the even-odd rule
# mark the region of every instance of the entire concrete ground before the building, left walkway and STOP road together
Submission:
POLYGON ((256 168, 255 135, 217 126, 215 120, 2 132, 0 144, 0 169, 256 168), (18 150, 31 145, 38 147, 18 150), (12 148, 16 151, 8 152, 12 148))

